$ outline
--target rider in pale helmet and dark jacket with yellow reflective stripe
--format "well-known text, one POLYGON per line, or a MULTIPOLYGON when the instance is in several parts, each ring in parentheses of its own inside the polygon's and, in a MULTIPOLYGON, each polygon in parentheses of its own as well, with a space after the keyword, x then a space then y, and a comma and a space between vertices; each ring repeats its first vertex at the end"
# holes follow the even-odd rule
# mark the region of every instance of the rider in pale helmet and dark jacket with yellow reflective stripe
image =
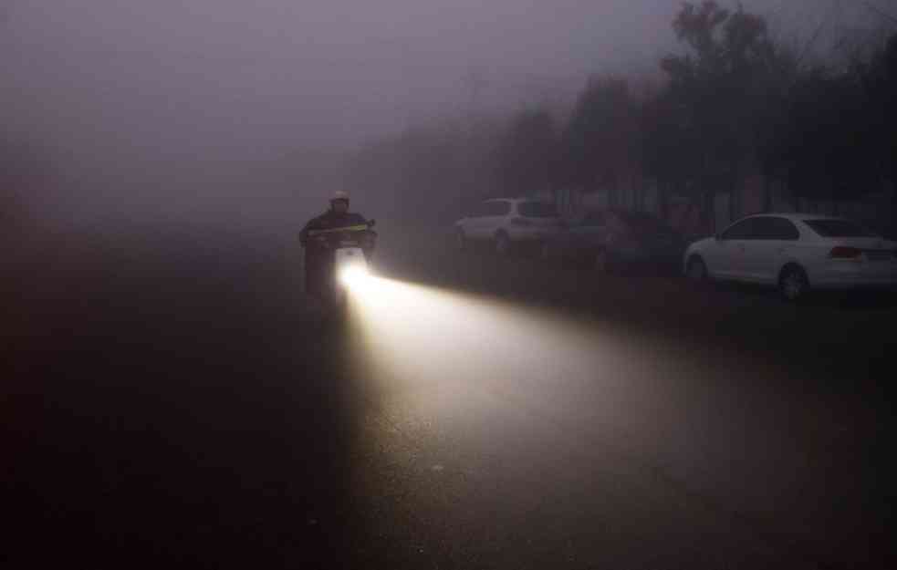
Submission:
MULTIPOLYGON (((349 212, 349 193, 334 192, 330 198, 330 208, 311 219, 299 233, 299 242, 305 247, 305 287, 312 295, 324 296, 329 291, 328 279, 333 270, 333 251, 325 244, 311 239, 311 233, 320 230, 353 228, 368 223, 359 213, 349 212)), ((365 248, 365 254, 372 253, 372 245, 365 248)))

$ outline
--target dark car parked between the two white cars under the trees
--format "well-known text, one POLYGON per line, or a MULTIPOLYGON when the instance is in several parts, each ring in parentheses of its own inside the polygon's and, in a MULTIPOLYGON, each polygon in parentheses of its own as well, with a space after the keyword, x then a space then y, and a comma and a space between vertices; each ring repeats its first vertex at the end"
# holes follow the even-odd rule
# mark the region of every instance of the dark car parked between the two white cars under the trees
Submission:
POLYGON ((673 268, 686 245, 683 236, 650 214, 603 210, 567 223, 543 244, 542 257, 585 262, 601 272, 623 264, 673 268))

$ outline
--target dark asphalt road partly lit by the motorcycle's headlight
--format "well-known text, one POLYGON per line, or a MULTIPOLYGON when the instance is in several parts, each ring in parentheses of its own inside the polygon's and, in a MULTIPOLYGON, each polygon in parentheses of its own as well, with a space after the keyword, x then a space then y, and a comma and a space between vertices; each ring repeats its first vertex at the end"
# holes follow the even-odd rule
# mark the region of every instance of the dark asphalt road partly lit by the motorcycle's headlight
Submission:
POLYGON ((695 290, 381 224, 45 235, 3 281, 5 567, 893 565, 889 296, 695 290))

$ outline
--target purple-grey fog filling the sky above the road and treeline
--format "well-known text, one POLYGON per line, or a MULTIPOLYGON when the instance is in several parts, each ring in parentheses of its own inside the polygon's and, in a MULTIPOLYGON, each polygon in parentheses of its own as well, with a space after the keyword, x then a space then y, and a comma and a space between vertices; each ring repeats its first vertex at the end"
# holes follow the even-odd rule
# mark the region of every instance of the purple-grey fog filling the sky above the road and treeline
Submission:
MULTIPOLYGON (((852 2, 742 5, 807 46, 874 20, 852 2)), ((563 104, 596 73, 656 74, 680 6, 6 0, 0 116, 7 139, 46 152, 53 181, 31 198, 58 219, 286 222, 318 207, 340 153, 364 141, 472 110, 563 104)))

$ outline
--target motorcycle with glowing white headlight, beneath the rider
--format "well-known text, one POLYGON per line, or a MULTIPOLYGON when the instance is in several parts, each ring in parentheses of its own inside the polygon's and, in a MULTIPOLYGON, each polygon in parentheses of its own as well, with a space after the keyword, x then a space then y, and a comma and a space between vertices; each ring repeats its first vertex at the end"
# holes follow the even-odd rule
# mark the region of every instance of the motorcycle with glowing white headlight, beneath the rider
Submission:
POLYGON ((308 240, 332 255, 326 276, 326 291, 319 293, 329 297, 336 306, 344 307, 349 298, 349 287, 357 285, 370 272, 370 256, 373 254, 377 233, 371 228, 376 221, 329 230, 311 230, 308 240))

